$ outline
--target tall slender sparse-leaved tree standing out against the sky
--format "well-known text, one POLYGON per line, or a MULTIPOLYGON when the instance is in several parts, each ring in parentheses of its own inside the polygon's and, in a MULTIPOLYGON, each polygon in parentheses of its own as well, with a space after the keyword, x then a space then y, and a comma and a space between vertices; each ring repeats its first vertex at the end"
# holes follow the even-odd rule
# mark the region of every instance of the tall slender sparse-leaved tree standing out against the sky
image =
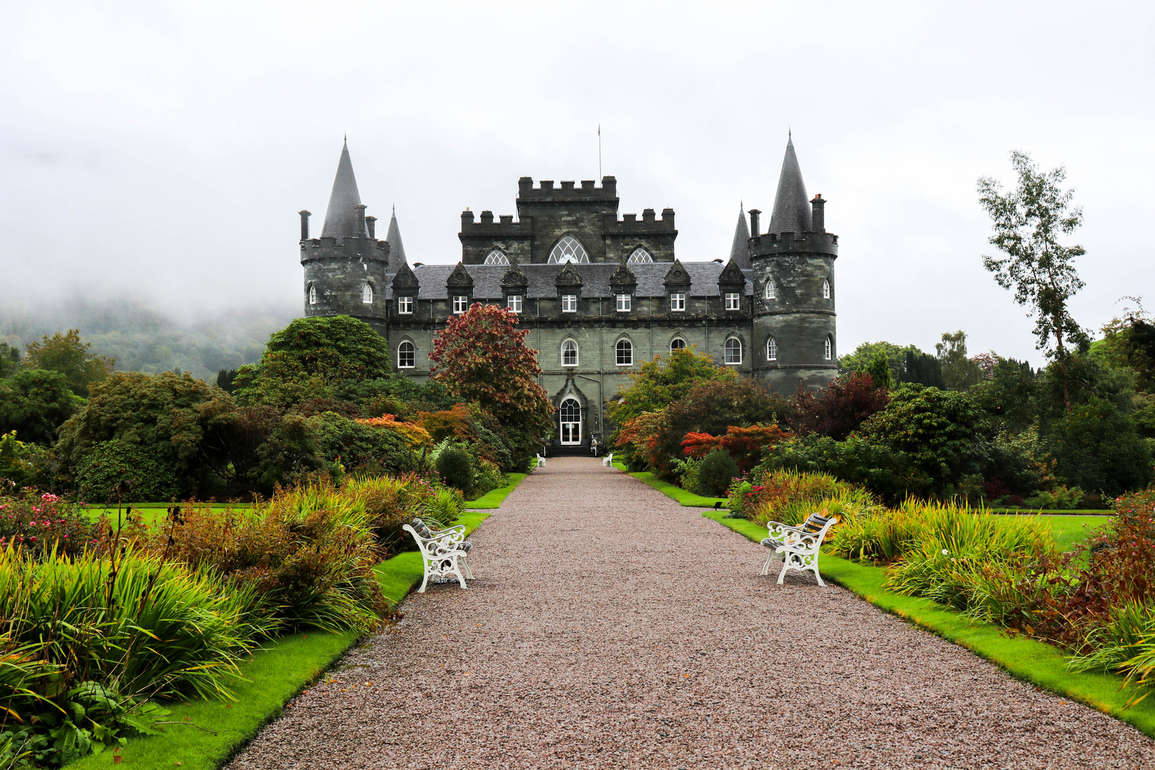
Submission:
POLYGON ((1073 189, 1063 189, 1066 169, 1040 171, 1026 152, 1011 154, 1011 165, 1019 177, 1014 189, 1003 192, 1003 184, 990 177, 978 179, 978 201, 991 217, 994 234, 988 240, 1005 256, 983 256, 983 266, 994 274, 1004 289, 1014 291, 1014 300, 1028 307, 1035 317, 1035 346, 1058 365, 1063 381, 1064 406, 1071 411, 1066 359, 1087 334, 1068 309, 1071 298, 1083 287, 1074 259, 1082 246, 1064 246, 1059 239, 1082 224, 1082 209, 1072 205, 1073 189))

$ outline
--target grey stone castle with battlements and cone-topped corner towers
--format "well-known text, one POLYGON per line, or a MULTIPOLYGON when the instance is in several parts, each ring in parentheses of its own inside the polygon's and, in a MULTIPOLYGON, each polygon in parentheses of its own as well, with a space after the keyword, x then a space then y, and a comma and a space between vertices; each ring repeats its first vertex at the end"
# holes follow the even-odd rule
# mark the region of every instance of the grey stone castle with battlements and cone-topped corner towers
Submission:
POLYGON ((320 238, 300 211, 305 315, 351 315, 386 337, 398 372, 430 375, 433 337, 474 302, 529 329, 558 408, 558 447, 603 442, 609 402, 655 356, 694 347, 790 395, 837 374, 834 261, 821 195, 808 200, 787 142, 769 227, 738 214, 728 260, 680 261, 673 209, 618 215, 618 181, 517 181, 517 215, 461 214, 456 264, 409 263, 394 212, 365 215, 348 143, 320 238))

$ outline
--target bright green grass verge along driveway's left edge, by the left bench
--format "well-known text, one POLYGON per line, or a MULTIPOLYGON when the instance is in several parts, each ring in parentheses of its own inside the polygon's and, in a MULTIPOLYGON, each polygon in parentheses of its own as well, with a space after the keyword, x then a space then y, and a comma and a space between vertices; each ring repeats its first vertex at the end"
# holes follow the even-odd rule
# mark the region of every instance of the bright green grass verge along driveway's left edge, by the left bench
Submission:
MULTIPOLYGON (((459 524, 472 532, 489 514, 462 514, 459 524)), ((407 552, 383 561, 375 568, 381 592, 400 603, 422 580, 420 554, 407 552)), ((69 770, 95 768, 172 768, 217 770, 232 758, 273 719, 284 704, 316 681, 329 666, 357 642, 351 631, 342 634, 293 634, 283 636, 253 655, 241 665, 245 681, 233 683, 237 701, 193 701, 166 704, 172 716, 166 719, 191 725, 167 725, 159 735, 132 738, 114 764, 111 752, 89 755, 68 765, 69 770), (207 733, 192 726, 216 731, 207 733)))

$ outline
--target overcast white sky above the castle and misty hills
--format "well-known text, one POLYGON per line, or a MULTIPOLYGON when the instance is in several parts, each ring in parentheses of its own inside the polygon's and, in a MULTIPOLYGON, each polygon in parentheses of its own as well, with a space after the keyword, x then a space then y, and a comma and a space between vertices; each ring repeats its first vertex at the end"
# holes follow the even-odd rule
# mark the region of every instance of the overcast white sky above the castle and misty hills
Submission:
MULTIPOLYGON (((981 174, 1065 164, 1086 226, 1075 315, 1155 306, 1149 2, 0 3, 0 305, 143 293, 164 312, 301 297, 341 137, 410 261, 456 262, 460 214, 516 181, 604 172, 672 207, 683 260, 768 211, 792 127, 840 234, 839 346, 1036 365, 983 270, 981 174)), ((766 219, 763 218, 763 222, 766 219)), ((383 234, 383 226, 381 223, 383 234)))

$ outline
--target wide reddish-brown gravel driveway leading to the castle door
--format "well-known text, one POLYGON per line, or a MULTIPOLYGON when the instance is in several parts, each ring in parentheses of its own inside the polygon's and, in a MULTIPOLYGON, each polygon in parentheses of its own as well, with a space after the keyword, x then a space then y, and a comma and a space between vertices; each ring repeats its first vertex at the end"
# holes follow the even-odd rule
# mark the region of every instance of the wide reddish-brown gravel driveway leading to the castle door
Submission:
POLYGON ((554 458, 432 586, 230 764, 1155 768, 1037 691, 593 458, 554 458))

